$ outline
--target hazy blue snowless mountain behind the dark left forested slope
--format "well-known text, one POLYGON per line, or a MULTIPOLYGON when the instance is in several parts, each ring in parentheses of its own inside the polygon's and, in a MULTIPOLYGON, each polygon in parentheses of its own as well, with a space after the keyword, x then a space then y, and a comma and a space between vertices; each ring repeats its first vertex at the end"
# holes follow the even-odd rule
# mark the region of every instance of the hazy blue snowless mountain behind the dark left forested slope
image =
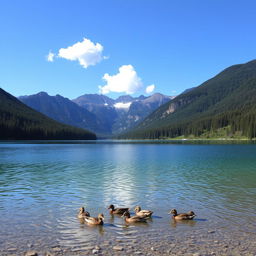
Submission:
POLYGON ((98 133, 104 132, 103 124, 93 113, 79 107, 68 98, 60 95, 49 96, 46 92, 40 92, 21 96, 19 100, 58 122, 98 133))

